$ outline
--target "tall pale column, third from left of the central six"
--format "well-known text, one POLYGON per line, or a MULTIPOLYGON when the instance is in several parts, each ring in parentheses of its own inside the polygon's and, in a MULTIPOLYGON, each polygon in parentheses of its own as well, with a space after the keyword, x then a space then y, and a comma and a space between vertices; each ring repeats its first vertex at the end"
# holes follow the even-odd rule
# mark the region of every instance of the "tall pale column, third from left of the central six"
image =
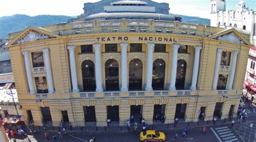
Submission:
POLYGON ((121 91, 128 91, 127 88, 127 43, 121 43, 121 54, 122 54, 122 65, 121 65, 121 70, 122 70, 122 77, 121 77, 121 91))

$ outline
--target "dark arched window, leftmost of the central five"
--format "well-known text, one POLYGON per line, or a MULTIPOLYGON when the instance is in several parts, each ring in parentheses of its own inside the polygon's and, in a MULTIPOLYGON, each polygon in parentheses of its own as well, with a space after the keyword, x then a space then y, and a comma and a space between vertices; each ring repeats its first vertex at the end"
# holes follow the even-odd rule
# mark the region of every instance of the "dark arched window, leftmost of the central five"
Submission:
POLYGON ((95 65, 91 60, 83 61, 82 77, 84 91, 95 91, 95 65))

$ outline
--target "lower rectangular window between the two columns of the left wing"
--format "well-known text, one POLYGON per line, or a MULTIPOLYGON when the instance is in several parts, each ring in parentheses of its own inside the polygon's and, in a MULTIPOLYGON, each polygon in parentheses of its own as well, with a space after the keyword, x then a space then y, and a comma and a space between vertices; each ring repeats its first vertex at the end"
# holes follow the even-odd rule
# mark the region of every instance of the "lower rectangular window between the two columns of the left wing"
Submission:
POLYGON ((35 77, 37 93, 48 93, 46 77, 35 77))

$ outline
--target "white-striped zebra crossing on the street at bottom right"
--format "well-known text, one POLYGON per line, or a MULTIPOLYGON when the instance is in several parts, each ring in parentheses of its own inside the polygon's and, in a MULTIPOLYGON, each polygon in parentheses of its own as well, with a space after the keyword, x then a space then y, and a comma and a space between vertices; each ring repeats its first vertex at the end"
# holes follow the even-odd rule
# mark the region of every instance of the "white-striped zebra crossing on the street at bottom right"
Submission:
POLYGON ((237 137, 234 135, 234 133, 230 130, 229 127, 223 126, 223 127, 216 127, 215 129, 215 136, 219 139, 219 141, 225 141, 225 142, 232 142, 232 141, 238 141, 237 137), (220 137, 219 137, 220 136, 220 137))

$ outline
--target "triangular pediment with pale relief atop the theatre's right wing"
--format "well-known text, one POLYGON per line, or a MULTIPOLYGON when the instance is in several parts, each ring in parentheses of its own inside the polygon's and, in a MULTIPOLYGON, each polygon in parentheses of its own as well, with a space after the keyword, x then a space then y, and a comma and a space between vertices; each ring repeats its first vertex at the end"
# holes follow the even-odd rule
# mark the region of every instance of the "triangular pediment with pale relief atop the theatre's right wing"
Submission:
POLYGON ((250 41, 242 37, 241 34, 237 32, 235 29, 228 29, 223 32, 213 34, 212 36, 209 36, 209 38, 221 41, 234 42, 237 44, 251 45, 250 41))

